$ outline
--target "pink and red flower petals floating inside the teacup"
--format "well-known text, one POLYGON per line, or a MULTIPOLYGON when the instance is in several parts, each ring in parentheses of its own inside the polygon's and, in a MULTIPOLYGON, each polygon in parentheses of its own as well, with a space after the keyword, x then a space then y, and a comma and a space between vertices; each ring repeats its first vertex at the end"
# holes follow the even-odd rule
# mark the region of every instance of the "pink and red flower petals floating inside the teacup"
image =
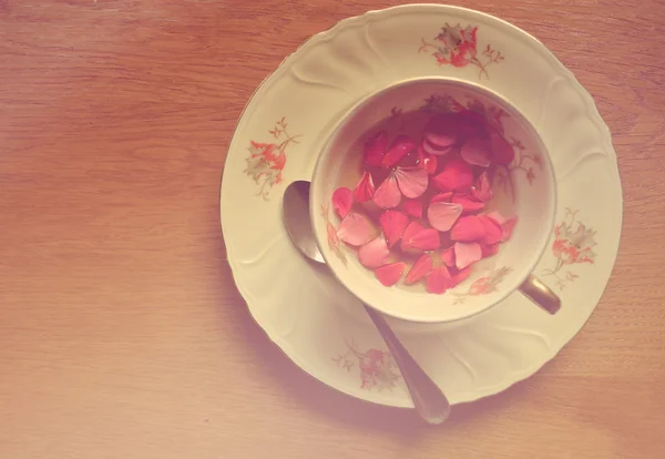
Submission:
POLYGON ((508 165, 514 152, 481 114, 436 115, 419 142, 398 135, 389 143, 381 131, 364 154, 356 187, 332 194, 341 220, 337 236, 357 248, 360 263, 385 286, 403 277, 442 294, 511 237, 516 217, 485 206, 492 198, 489 173, 508 165))

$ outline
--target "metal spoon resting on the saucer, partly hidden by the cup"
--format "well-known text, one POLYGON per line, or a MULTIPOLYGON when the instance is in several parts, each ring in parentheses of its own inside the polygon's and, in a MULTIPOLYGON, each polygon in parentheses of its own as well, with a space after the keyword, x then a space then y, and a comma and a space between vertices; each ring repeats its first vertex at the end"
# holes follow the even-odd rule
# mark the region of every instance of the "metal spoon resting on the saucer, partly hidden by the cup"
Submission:
MULTIPOLYGON (((309 182, 291 183, 284 194, 283 206, 284 223, 293 243, 307 258, 325 264, 309 220, 309 182)), ((413 360, 383 316, 365 303, 362 306, 390 349, 418 415, 429 424, 443 422, 450 415, 450 402, 439 386, 413 360)))

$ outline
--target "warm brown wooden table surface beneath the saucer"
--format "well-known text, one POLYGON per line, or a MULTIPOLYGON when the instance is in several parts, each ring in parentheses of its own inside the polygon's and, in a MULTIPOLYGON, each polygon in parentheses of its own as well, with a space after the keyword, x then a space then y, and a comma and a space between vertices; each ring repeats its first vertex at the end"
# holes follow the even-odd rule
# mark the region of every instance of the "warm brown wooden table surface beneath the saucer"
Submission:
POLYGON ((397 3, 0 0, 0 457, 665 457, 662 0, 463 2, 550 47, 618 154, 612 280, 541 373, 429 428, 250 319, 219 231, 235 122, 309 35, 397 3))

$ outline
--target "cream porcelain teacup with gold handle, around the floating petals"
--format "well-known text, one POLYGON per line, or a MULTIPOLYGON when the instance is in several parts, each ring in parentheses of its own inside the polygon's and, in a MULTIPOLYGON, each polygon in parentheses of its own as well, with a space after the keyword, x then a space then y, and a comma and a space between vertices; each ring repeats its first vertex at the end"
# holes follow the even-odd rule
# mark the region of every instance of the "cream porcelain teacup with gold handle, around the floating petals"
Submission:
MULTIPOLYGON (((460 132, 459 142, 463 142, 471 135, 475 134, 460 132)), ((428 145, 432 146, 429 143, 428 145)), ((448 164, 451 155, 457 155, 459 160, 460 145, 461 143, 454 144, 443 154, 433 151, 437 153, 438 167, 448 164)), ((433 146, 439 147, 436 144, 433 146)), ((431 149, 426 150, 431 152, 431 149)), ((413 154, 416 153, 411 153, 411 156, 413 154)), ((418 164, 416 166, 411 164, 409 167, 422 164, 422 151, 420 154, 418 164)), ((428 153, 426 156, 431 159, 433 155, 428 153)), ((379 171, 379 175, 382 174, 381 177, 387 180, 385 176, 390 174, 391 167, 393 165, 386 167, 385 173, 379 171)), ((440 170, 431 170, 429 181, 431 182, 438 173, 440 170)), ((374 183, 375 191, 380 187, 381 177, 374 183)), ((474 182, 473 186, 479 185, 474 182)), ((454 192, 453 196, 457 196, 454 192)), ((429 212, 428 206, 432 205, 431 195, 420 200, 423 206, 421 220, 416 216, 417 214, 405 211, 407 201, 412 200, 402 196, 400 204, 396 206, 388 204, 388 207, 392 206, 391 210, 410 215, 410 222, 419 221, 421 227, 428 227, 426 215, 429 212)), ((371 200, 362 204, 356 202, 351 212, 362 214, 370 221, 377 221, 377 215, 387 212, 386 204, 382 201, 381 204, 383 208, 376 206, 371 200)), ((396 318, 419 323, 446 323, 467 318, 489 309, 515 290, 520 290, 536 305, 554 314, 560 307, 557 296, 532 273, 552 233, 555 208, 556 182, 552 163, 532 123, 501 95, 483 86, 450 78, 407 80, 381 89, 360 101, 332 130, 316 164, 310 186, 311 224, 319 248, 335 276, 355 296, 375 309, 396 318), (385 264, 397 263, 390 269, 395 272, 403 267, 403 272, 391 274, 391 276, 399 274, 399 280, 392 283, 391 279, 390 284, 393 285, 386 286, 385 275, 378 273, 386 273, 389 269, 364 266, 359 261, 358 247, 345 243, 344 237, 340 237, 340 215, 344 216, 348 210, 341 210, 341 214, 336 212, 339 208, 332 205, 332 196, 339 187, 348 187, 350 191, 356 188, 364 171, 367 170, 364 145, 375 141, 378 132, 385 130, 388 133, 388 149, 390 142, 400 134, 410 135, 417 147, 422 149, 424 143, 421 142, 421 137, 427 130, 426 126, 431 124, 432 118, 441 116, 441 113, 480 115, 479 120, 485 128, 484 131, 479 131, 478 135, 481 140, 489 142, 492 135, 501 134, 512 149, 514 159, 509 164, 491 164, 485 167, 484 164, 479 165, 473 160, 470 167, 474 181, 480 180, 482 172, 487 172, 485 177, 490 177, 493 196, 484 204, 483 214, 497 211, 509 222, 514 222, 514 227, 508 227, 504 232, 503 236, 509 237, 508 241, 493 245, 479 243, 483 251, 482 259, 468 268, 458 269, 456 266, 450 268, 451 272, 460 275, 463 272, 468 278, 444 293, 428 292, 429 274, 421 282, 412 285, 407 285, 406 278, 422 254, 430 254, 433 259, 432 266, 437 267, 442 265, 441 255, 449 244, 453 248, 448 253, 452 251, 460 256, 459 259, 462 256, 462 248, 467 251, 472 247, 472 252, 477 251, 474 242, 463 242, 454 246, 454 241, 447 239, 446 233, 441 233, 439 247, 423 249, 422 254, 416 249, 415 253, 405 252, 395 255, 391 251, 391 258, 385 264), (510 220, 511 217, 516 217, 516 221, 510 220), (511 230, 512 234, 510 234, 511 230), (491 256, 484 253, 490 246, 494 252, 499 248, 498 253, 491 256), (403 266, 400 264, 402 262, 403 266)), ((467 212, 464 207, 459 218, 475 214, 472 211, 467 212)), ((487 223, 488 220, 482 218, 487 223)), ((505 221, 497 222, 498 220, 491 221, 505 225, 505 221)), ((387 235, 382 234, 380 228, 381 226, 377 225, 376 236, 386 239, 387 235)), ((382 243, 379 241, 377 244, 382 243)), ((397 243, 397 246, 399 244, 397 243)), ((409 245, 406 247, 411 248, 409 245)), ((429 259, 424 258, 429 263, 429 259)), ((412 280, 415 276, 410 278, 412 280)), ((432 285, 434 280, 432 277, 432 285)))

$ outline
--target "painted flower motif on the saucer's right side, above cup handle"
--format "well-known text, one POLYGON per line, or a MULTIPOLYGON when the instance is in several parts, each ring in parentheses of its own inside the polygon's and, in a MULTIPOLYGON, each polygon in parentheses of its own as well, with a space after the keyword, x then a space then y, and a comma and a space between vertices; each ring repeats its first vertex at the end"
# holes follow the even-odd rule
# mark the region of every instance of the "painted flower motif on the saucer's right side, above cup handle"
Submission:
POLYGON ((556 265, 543 272, 543 275, 556 278, 561 290, 579 277, 571 272, 561 275, 564 266, 595 262, 593 247, 596 245, 596 232, 577 221, 577 212, 566 208, 566 220, 554 227, 552 253, 556 257, 556 265))

